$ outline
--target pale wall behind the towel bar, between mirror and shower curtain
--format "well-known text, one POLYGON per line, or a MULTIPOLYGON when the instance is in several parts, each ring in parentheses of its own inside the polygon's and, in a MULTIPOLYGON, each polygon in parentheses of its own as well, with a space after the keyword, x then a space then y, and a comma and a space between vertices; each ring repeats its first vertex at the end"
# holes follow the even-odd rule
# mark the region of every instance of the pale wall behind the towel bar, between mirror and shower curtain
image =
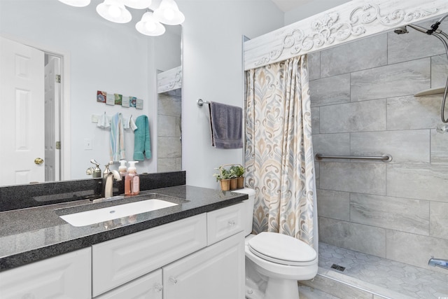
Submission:
POLYGON ((222 164, 243 162, 243 151, 211 146, 208 107, 198 98, 242 107, 242 35, 260 36, 283 26, 269 0, 179 0, 183 24, 182 132, 187 184, 218 188, 212 176, 222 164))

